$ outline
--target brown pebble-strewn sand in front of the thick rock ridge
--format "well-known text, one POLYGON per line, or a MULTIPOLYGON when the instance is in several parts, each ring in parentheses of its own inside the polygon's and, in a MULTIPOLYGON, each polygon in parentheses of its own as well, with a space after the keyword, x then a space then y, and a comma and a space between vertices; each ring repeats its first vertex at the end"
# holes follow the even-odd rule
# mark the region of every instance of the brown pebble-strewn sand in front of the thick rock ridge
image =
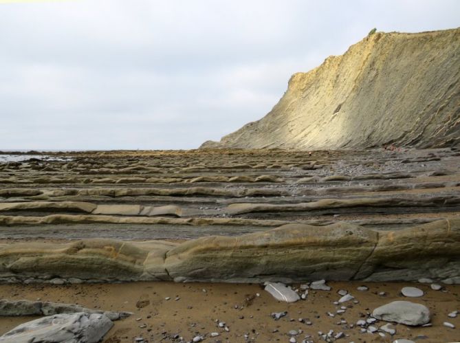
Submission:
MULTIPOLYGON (((289 342, 290 330, 302 330, 296 336, 301 342, 310 335, 318 340, 318 331, 335 333, 342 331, 347 337, 339 342, 393 342, 397 338, 417 342, 456 342, 460 340, 460 316, 448 318, 448 313, 460 309, 460 285, 448 285, 445 291, 434 291, 429 285, 408 283, 328 283, 331 291, 309 291, 307 300, 287 304, 278 302, 260 285, 206 284, 206 283, 128 283, 96 285, 0 285, 0 298, 29 299, 54 302, 72 302, 85 307, 131 311, 134 314, 115 322, 103 342, 133 342, 144 338, 145 342, 179 342, 179 337, 192 340, 204 336, 205 342, 289 342), (356 287, 366 285, 368 291, 356 287), (425 291, 421 298, 404 298, 402 287, 413 285, 425 291), (339 289, 348 290, 358 304, 346 302, 345 313, 336 313, 340 306, 333 305, 340 296, 339 289), (379 293, 384 291, 385 296, 379 293), (260 294, 260 296, 256 296, 260 294), (166 300, 166 298, 170 298, 166 300), (410 300, 426 305, 432 313, 432 327, 407 327, 395 324, 397 333, 384 338, 377 333, 360 333, 360 327, 350 327, 359 319, 366 319, 376 307, 393 300, 410 300), (273 312, 287 311, 280 320, 274 320, 273 312), (299 322, 303 318, 303 322, 299 322), (348 324, 340 324, 340 320, 348 324), (217 321, 217 322, 216 322, 217 321), (305 322, 311 321, 311 325, 305 322), (443 327, 443 322, 454 324, 457 329, 443 327), (218 327, 226 322, 229 331, 218 327), (210 333, 219 336, 211 338, 210 333), (176 336, 177 335, 177 336, 176 336), (177 337, 177 338, 175 338, 177 337)), ((0 318, 0 333, 34 318, 0 318)), ((386 322, 377 322, 381 327, 386 322)))

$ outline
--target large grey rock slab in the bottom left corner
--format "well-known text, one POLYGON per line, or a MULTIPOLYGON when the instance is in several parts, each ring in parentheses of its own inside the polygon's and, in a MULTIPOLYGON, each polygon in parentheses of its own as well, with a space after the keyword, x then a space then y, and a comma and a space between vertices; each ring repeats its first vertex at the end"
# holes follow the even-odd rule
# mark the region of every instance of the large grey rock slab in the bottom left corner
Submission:
POLYGON ((113 327, 103 314, 56 314, 26 322, 0 337, 1 343, 96 343, 113 327))

